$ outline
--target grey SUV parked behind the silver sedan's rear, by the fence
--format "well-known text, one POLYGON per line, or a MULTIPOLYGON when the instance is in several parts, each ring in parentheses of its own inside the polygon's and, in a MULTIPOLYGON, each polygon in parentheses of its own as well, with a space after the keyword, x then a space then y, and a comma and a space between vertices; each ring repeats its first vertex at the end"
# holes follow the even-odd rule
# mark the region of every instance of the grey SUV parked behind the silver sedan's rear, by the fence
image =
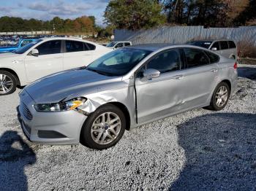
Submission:
POLYGON ((189 42, 188 44, 216 51, 226 58, 233 58, 235 60, 238 58, 236 43, 231 40, 200 40, 189 42))

